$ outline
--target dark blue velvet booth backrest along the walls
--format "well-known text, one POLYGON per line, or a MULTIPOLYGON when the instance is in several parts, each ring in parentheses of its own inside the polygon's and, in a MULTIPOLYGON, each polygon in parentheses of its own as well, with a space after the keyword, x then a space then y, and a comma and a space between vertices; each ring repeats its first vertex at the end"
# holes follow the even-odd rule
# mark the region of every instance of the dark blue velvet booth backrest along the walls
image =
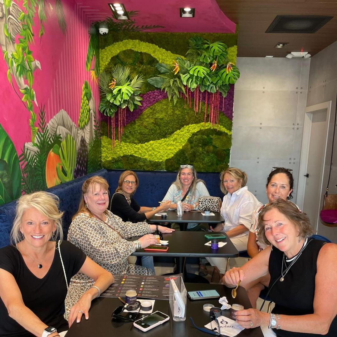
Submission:
MULTIPOLYGON (((112 195, 117 186, 120 174, 124 170, 100 170, 95 173, 74 179, 67 183, 49 188, 47 191, 56 194, 60 198, 60 210, 64 211, 62 226, 64 238, 67 238, 68 228, 72 216, 79 207, 81 198, 81 188, 83 182, 95 175, 102 176, 109 183, 110 195, 112 195)), ((139 187, 134 195, 135 200, 140 206, 157 207, 158 201, 161 201, 168 188, 175 181, 177 172, 166 171, 135 171, 139 178, 139 187)), ((200 173, 198 178, 206 183, 210 195, 220 196, 220 180, 218 173, 200 173)), ((0 206, 0 247, 9 244, 9 233, 15 217, 16 200, 0 206)))

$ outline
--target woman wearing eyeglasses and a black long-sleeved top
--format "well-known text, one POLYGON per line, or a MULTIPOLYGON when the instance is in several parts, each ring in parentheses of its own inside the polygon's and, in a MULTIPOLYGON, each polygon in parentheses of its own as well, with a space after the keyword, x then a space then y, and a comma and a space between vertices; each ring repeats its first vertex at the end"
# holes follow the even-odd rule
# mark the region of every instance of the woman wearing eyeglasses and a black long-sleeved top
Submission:
MULTIPOLYGON (((124 171, 119 177, 116 192, 111 197, 110 211, 124 222, 146 221, 156 213, 170 208, 170 201, 152 208, 139 206, 133 198, 138 186, 139 179, 136 173, 130 170, 124 171)), ((154 272, 153 256, 142 256, 142 266, 152 269, 154 272)))

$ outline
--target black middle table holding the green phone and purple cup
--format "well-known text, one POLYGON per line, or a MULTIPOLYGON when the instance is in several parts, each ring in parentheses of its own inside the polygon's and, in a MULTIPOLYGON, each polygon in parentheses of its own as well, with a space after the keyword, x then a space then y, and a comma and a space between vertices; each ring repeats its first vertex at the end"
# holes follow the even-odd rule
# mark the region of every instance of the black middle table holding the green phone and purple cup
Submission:
MULTIPOLYGON (((219 239, 219 242, 226 242, 226 244, 218 249, 211 249, 211 246, 206 246, 205 243, 210 239, 205 238, 205 234, 223 234, 222 232, 173 232, 164 233, 164 240, 168 240, 168 250, 165 251, 146 251, 139 249, 133 252, 131 255, 136 256, 173 256, 177 257, 177 271, 183 273, 184 280, 186 276, 189 279, 200 282, 208 282, 204 278, 197 278, 198 275, 187 275, 184 265, 186 257, 238 257, 239 252, 233 245, 229 238, 219 239), (196 280, 196 279, 199 279, 196 280)), ((139 237, 133 237, 132 240, 136 240, 139 237)))

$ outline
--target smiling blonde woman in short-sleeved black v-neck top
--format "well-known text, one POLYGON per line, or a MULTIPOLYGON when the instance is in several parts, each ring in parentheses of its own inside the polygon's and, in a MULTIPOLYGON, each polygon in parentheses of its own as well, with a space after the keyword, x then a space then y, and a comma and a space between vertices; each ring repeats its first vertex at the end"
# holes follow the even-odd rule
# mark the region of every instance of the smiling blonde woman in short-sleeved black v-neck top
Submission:
POLYGON ((58 205, 59 198, 44 191, 17 201, 13 245, 0 249, 0 336, 64 336, 74 320, 89 318, 91 301, 114 281, 111 273, 62 240, 58 205), (66 321, 67 286, 78 271, 93 284, 72 303, 66 321))

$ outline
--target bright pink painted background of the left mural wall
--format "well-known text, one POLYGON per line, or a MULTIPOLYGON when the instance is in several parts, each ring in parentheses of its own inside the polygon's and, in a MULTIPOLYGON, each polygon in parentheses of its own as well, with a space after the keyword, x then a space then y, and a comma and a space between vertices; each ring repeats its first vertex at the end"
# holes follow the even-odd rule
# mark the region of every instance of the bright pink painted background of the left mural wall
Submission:
MULTIPOLYGON (((46 121, 48 122, 61 109, 65 110, 72 121, 77 125, 82 85, 88 81, 95 99, 96 111, 99 102, 99 91, 96 84, 90 80, 90 72, 85 69, 85 59, 88 49, 88 27, 91 18, 85 7, 72 0, 62 0, 66 34, 63 35, 55 14, 55 1, 45 3, 47 22, 44 23, 45 33, 38 38, 39 21, 33 27, 34 45, 30 48, 32 56, 41 64, 41 70, 33 73, 36 99, 38 105, 45 105, 46 121)), ((2 113, 0 124, 14 143, 17 153, 22 152, 25 142, 30 142, 29 112, 21 101, 22 94, 13 81, 14 88, 9 84, 6 76, 7 65, 0 58, 0 99, 2 113), (16 94, 17 91, 20 97, 16 94)), ((34 104, 34 112, 38 116, 39 109, 34 104)), ((38 121, 38 119, 37 119, 38 121)), ((37 125, 37 123, 36 123, 37 125)))

